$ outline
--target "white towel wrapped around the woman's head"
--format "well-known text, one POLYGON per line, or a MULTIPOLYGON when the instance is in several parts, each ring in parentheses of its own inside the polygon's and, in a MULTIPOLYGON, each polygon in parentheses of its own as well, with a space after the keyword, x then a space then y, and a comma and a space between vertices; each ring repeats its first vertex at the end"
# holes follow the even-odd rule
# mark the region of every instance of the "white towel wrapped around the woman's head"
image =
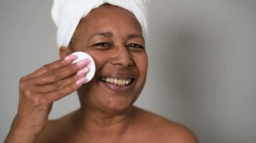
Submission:
POLYGON ((78 23, 92 9, 102 4, 111 4, 131 11, 142 26, 144 38, 147 35, 147 6, 150 0, 54 0, 52 19, 57 31, 58 46, 68 46, 78 23))

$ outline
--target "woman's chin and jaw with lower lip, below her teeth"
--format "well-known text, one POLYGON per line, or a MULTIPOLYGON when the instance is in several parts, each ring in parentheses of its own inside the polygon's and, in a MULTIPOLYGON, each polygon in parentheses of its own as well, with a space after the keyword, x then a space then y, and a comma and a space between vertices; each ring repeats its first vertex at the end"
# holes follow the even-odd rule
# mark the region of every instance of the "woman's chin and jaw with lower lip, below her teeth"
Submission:
POLYGON ((109 84, 99 80, 92 80, 78 90, 81 104, 90 105, 91 109, 101 109, 104 112, 125 112, 139 97, 134 81, 126 86, 109 84))

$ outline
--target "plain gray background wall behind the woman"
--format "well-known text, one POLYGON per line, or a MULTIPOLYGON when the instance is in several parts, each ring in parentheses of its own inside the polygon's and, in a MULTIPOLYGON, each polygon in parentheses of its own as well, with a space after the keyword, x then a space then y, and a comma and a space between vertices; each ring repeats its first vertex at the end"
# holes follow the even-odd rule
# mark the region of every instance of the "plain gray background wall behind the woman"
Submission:
MULTIPOLYGON (((0 140, 19 78, 58 59, 52 1, 1 0, 0 140)), ((147 84, 135 103, 185 124, 201 142, 256 142, 256 1, 152 1, 147 84)), ((79 107, 76 94, 50 118, 79 107)))

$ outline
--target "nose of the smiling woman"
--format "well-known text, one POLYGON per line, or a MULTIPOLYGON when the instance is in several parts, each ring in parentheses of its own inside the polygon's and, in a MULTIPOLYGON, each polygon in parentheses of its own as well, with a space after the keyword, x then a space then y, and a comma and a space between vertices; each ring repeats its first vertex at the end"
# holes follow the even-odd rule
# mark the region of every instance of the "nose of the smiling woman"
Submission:
POLYGON ((114 51, 114 54, 111 58, 111 64, 114 64, 115 66, 122 66, 122 67, 128 67, 132 66, 134 64, 134 61, 132 60, 132 55, 129 53, 128 49, 125 46, 116 48, 116 51, 114 51))

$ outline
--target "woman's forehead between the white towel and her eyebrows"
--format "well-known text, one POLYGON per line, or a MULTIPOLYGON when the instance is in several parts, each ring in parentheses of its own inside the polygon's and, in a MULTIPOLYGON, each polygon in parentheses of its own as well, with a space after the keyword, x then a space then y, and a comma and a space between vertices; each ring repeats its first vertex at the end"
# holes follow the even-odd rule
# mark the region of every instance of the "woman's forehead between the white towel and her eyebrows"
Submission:
POLYGON ((113 34, 142 34, 140 23, 132 12, 109 4, 93 9, 81 19, 75 34, 86 33, 90 36, 99 31, 111 31, 113 34))

